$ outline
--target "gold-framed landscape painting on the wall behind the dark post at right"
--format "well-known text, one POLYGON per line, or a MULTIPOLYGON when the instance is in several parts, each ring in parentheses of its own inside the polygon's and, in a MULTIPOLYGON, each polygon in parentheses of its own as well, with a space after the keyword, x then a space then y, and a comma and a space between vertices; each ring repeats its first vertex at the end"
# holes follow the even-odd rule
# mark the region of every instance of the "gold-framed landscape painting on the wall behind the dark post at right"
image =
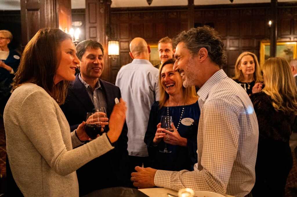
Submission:
MULTIPOLYGON (((270 57, 270 41, 261 41, 260 43, 260 66, 270 57)), ((297 42, 277 42, 276 57, 283 57, 289 63, 297 58, 297 42)))

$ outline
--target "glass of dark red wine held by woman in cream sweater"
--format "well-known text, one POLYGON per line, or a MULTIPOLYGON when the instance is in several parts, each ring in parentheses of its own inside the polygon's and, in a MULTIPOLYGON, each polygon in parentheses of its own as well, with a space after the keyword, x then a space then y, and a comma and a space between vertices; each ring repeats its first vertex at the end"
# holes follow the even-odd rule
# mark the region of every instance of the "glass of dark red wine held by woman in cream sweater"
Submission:
POLYGON ((85 131, 91 139, 95 139, 97 134, 101 133, 101 125, 99 121, 100 113, 87 113, 85 131))

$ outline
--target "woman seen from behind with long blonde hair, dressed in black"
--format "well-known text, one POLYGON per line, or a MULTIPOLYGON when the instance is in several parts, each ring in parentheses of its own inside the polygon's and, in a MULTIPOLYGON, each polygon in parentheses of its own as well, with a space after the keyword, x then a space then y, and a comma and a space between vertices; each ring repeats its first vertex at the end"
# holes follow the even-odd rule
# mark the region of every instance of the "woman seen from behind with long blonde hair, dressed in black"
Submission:
POLYGON ((263 77, 262 92, 250 96, 259 124, 252 195, 284 196, 293 166, 289 140, 297 114, 297 88, 289 64, 280 57, 264 63, 263 77))

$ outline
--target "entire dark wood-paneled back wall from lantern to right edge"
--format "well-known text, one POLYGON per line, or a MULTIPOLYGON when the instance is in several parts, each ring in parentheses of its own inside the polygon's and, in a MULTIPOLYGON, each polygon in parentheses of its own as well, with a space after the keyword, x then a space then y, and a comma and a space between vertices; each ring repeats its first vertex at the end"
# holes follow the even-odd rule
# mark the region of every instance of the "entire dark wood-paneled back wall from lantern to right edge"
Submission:
MULTIPOLYGON (((278 40, 297 41, 297 3, 278 5, 278 40)), ((260 41, 270 38, 270 4, 195 6, 194 17, 196 25, 213 25, 222 36, 228 57, 223 69, 230 77, 242 52, 260 57, 260 41)), ((188 29, 188 12, 187 7, 114 8, 111 23, 120 41, 120 56, 112 63, 114 83, 120 67, 132 61, 129 43, 133 38, 142 37, 149 44, 156 44, 165 36, 173 38, 188 29)))

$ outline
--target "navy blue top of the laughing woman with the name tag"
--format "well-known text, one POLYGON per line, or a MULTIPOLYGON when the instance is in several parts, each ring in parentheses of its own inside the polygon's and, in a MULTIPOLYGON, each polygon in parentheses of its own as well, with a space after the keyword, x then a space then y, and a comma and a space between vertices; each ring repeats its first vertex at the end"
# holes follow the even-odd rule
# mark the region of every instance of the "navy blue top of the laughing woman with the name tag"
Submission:
MULTIPOLYGON (((195 102, 192 105, 169 107, 169 116, 172 116, 175 127, 178 126, 183 108, 184 114, 181 119, 187 118, 187 122, 199 121, 200 108, 198 102, 195 102)), ((147 167, 170 171, 179 171, 183 169, 192 171, 194 164, 197 163, 196 151, 198 127, 187 126, 180 123, 178 133, 181 137, 187 138, 187 147, 167 144, 167 149, 172 152, 161 153, 159 150, 164 150, 165 142, 162 140, 157 146, 154 146, 153 139, 157 131, 157 124, 160 123, 161 117, 164 115, 167 115, 167 107, 159 109, 159 102, 155 102, 151 107, 148 128, 144 137, 144 142, 148 146, 149 152, 149 166, 147 167)))

